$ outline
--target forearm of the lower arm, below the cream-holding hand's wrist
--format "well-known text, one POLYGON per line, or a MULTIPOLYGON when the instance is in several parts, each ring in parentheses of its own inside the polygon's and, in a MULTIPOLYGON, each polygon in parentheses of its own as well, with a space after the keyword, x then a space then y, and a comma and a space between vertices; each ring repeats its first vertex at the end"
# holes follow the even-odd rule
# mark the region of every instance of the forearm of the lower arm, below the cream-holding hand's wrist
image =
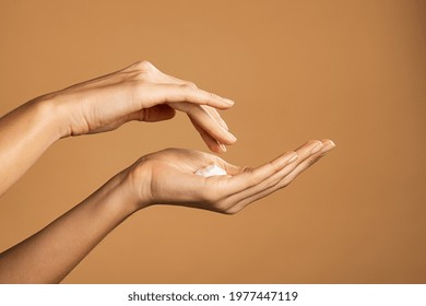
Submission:
POLYGON ((0 283, 60 282, 134 212, 129 195, 119 174, 44 229, 1 254, 0 283))

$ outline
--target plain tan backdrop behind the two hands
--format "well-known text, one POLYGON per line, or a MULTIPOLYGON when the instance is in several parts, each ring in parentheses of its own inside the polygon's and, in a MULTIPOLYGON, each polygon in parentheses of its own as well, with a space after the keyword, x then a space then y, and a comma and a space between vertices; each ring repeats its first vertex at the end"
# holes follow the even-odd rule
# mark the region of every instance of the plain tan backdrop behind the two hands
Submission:
MULTIPOLYGON (((421 0, 1 0, 1 115, 147 59, 236 101, 233 163, 338 144, 238 215, 139 212, 66 282, 425 283, 425 13, 421 0)), ((59 141, 0 199, 0 249, 167 146, 206 150, 184 115, 59 141)))

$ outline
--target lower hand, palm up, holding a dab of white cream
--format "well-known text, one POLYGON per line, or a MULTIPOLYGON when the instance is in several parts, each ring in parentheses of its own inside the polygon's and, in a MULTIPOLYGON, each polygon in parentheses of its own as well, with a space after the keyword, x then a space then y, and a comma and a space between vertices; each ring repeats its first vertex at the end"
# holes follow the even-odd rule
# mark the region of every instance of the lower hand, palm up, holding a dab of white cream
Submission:
POLYGON ((234 214, 249 203, 286 187, 334 148, 331 140, 309 141, 257 168, 226 163, 222 158, 182 149, 149 154, 128 172, 137 208, 176 204, 234 214), (228 175, 202 177, 194 173, 216 164, 228 175))

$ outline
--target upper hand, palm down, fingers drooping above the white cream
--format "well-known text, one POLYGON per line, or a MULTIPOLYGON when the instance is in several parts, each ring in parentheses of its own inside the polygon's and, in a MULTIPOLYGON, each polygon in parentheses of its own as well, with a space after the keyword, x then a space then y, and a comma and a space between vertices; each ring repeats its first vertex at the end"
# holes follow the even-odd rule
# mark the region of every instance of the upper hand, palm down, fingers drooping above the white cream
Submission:
POLYGON ((161 121, 186 113, 206 145, 226 151, 236 138, 217 109, 233 102, 198 89, 193 83, 167 75, 147 61, 47 95, 61 106, 67 126, 62 137, 117 129, 131 121, 161 121))

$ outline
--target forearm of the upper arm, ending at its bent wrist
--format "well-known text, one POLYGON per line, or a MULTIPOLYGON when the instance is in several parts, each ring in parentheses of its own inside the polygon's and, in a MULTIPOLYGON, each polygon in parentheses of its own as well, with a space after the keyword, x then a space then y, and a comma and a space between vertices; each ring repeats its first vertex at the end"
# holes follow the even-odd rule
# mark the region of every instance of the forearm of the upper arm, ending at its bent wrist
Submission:
POLYGON ((0 195, 61 137, 64 115, 48 98, 38 98, 0 118, 0 195))

